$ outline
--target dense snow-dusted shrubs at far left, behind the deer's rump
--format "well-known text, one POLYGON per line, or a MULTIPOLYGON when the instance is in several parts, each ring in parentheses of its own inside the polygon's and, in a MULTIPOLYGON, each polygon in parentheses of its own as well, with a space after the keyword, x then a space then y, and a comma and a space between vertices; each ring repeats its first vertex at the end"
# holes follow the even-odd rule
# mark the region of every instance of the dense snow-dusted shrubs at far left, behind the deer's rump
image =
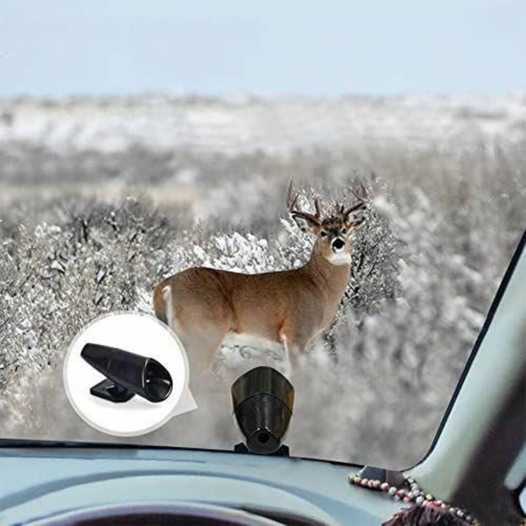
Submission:
POLYGON ((0 385, 23 364, 54 366, 95 316, 135 308, 141 287, 153 287, 167 265, 165 233, 158 237, 165 228, 126 201, 116 209, 92 207, 88 215, 77 210, 62 226, 21 225, 4 240, 0 385))

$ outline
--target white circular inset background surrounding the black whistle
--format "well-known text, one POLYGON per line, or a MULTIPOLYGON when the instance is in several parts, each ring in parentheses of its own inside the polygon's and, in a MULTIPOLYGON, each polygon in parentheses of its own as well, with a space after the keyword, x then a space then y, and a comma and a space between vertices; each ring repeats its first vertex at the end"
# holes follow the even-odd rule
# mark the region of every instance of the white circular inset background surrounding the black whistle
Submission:
POLYGON ((66 394, 80 418, 98 431, 120 437, 153 431, 177 414, 188 378, 186 352, 175 333, 153 316, 135 312, 112 313, 88 323, 70 344, 64 360, 66 394), (87 343, 157 360, 170 373, 169 396, 150 402, 136 394, 127 402, 113 402, 92 395, 90 389, 106 377, 80 356, 87 343))

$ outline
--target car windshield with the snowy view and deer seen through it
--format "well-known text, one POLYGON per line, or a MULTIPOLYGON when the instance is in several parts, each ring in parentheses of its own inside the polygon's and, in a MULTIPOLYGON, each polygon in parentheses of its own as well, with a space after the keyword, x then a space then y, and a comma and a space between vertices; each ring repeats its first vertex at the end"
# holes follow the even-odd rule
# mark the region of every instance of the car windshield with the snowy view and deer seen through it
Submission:
POLYGON ((294 456, 427 451, 526 221, 521 17, 294 4, 8 2, 1 438, 232 450, 232 382, 267 365, 295 388, 294 456), (297 272, 164 281, 192 267, 297 272), (198 406, 133 437, 63 382, 79 331, 119 311, 177 334, 198 406))

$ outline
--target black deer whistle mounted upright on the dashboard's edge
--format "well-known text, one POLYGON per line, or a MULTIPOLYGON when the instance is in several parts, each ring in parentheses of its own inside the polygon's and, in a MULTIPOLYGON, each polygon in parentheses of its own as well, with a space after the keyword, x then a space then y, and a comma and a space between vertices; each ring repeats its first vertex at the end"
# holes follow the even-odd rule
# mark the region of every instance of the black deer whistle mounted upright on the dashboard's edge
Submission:
MULTIPOLYGON (((250 453, 284 454, 281 446, 294 408, 294 387, 271 367, 256 367, 232 385, 234 414, 250 453)), ((242 445, 242 444, 241 444, 242 445)), ((242 452, 242 448, 236 447, 242 452)), ((286 453, 285 453, 286 454, 286 453)))

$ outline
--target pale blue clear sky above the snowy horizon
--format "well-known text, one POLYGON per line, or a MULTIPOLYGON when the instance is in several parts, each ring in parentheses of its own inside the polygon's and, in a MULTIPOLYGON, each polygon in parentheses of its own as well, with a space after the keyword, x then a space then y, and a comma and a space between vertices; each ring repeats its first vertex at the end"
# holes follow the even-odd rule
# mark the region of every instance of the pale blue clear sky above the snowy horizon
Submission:
POLYGON ((524 0, 2 0, 0 97, 526 90, 524 0))

